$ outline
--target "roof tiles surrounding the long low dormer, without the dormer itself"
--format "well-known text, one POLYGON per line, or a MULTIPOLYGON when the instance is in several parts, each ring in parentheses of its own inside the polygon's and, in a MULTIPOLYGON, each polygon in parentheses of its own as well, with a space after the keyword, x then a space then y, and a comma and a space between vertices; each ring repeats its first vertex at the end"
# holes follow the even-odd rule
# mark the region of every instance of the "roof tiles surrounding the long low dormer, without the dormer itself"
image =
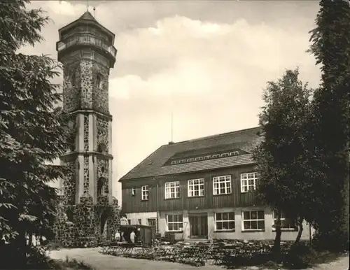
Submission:
POLYGON ((236 132, 228 132, 214 136, 196 138, 189 141, 182 141, 179 143, 162 145, 158 150, 155 150, 155 152, 146 157, 144 161, 135 166, 134 169, 120 178, 120 181, 253 164, 254 162, 251 152, 262 141, 262 136, 260 136, 259 132, 259 127, 253 127, 251 129, 243 129, 236 132), (228 144, 235 144, 237 145, 237 148, 248 153, 246 155, 164 166, 168 159, 176 154, 179 155, 181 152, 191 151, 195 154, 195 150, 202 152, 202 148, 220 149, 221 145, 228 144))

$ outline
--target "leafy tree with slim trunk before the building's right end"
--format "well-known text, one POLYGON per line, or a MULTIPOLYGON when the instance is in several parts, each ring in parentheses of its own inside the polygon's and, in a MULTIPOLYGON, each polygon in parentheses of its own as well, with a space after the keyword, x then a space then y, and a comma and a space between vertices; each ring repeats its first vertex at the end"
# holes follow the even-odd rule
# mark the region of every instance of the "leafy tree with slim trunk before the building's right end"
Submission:
POLYGON ((311 90, 298 77, 298 69, 287 70, 277 82, 267 83, 265 106, 259 115, 265 140, 253 153, 260 172, 258 198, 277 213, 277 251, 281 213, 302 222, 307 215, 304 197, 312 196, 306 179, 309 167, 305 152, 311 90))

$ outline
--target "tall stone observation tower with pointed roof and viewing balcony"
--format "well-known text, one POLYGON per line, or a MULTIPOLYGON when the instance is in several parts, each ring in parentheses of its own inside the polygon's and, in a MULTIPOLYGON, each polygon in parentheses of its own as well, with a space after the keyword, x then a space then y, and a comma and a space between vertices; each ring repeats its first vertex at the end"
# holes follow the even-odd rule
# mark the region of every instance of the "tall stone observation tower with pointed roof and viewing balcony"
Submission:
POLYGON ((70 149, 61 157, 70 173, 60 182, 62 215, 57 241, 93 246, 119 225, 112 197, 112 115, 109 71, 116 62, 115 35, 86 11, 59 29, 56 44, 63 64, 63 112, 69 116, 70 149))

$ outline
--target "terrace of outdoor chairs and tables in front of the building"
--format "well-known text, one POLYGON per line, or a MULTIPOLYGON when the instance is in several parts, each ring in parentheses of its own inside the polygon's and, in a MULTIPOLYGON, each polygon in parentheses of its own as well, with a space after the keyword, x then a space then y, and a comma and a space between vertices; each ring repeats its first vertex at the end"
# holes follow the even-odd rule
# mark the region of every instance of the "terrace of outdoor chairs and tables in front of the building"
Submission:
MULTIPOLYGON (((282 242, 281 252, 286 254, 291 243, 282 242)), ((193 266, 205 264, 252 265, 272 259, 271 241, 215 241, 207 243, 155 242, 152 246, 141 243, 105 242, 99 245, 101 253, 146 260, 165 260, 193 266)))

